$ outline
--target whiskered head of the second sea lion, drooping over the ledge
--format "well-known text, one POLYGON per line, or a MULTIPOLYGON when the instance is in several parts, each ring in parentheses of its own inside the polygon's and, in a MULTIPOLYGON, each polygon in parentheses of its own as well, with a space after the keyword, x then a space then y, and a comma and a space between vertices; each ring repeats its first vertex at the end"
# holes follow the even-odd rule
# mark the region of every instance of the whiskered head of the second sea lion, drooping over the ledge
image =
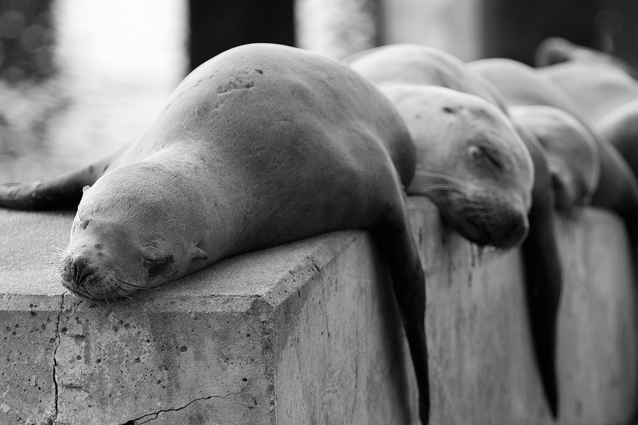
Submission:
POLYGON ((488 101, 451 89, 408 84, 381 89, 417 147, 408 194, 432 198, 471 242, 520 244, 529 228, 534 168, 508 118, 488 101))

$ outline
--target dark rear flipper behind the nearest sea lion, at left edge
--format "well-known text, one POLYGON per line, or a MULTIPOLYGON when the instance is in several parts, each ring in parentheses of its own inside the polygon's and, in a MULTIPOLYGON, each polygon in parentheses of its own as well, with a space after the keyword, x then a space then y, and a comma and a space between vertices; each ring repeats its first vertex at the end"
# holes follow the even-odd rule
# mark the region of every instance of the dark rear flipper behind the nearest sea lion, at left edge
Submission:
POLYGON ((109 169, 115 154, 52 179, 0 184, 0 208, 55 210, 76 207, 82 188, 91 186, 109 169))

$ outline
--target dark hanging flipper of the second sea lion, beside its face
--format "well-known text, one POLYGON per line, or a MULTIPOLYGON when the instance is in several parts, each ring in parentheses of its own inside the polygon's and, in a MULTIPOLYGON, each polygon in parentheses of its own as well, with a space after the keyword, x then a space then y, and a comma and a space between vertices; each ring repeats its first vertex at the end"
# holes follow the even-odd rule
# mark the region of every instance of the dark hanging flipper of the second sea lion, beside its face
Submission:
POLYGON ((534 162, 530 233, 522 244, 525 292, 536 363, 549 410, 556 418, 559 412, 556 322, 562 288, 562 267, 554 233, 552 182, 540 144, 525 129, 518 125, 515 127, 530 150, 534 162))

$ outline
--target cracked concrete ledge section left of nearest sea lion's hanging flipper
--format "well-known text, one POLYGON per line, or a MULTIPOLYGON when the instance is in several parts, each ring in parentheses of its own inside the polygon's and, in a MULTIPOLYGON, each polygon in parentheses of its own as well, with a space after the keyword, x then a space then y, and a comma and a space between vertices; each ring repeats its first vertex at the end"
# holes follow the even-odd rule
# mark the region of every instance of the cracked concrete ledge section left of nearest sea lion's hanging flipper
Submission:
POLYGON ((71 220, 0 211, 0 228, 12 229, 0 266, 0 376, 11 376, 0 424, 413 420, 414 397, 397 397, 411 378, 401 327, 366 232, 237 256, 128 304, 97 305, 33 279, 50 273, 32 251, 64 240, 71 220), (35 272, 16 273, 28 263, 35 272))

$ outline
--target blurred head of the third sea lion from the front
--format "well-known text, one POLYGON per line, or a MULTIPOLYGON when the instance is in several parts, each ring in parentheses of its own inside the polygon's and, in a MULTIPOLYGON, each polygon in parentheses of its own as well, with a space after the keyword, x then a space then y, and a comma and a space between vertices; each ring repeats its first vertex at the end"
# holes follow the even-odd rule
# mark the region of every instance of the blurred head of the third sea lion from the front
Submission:
POLYGON ((569 113, 552 106, 518 106, 512 120, 530 130, 547 154, 556 209, 589 203, 598 187, 600 157, 591 133, 569 113))

